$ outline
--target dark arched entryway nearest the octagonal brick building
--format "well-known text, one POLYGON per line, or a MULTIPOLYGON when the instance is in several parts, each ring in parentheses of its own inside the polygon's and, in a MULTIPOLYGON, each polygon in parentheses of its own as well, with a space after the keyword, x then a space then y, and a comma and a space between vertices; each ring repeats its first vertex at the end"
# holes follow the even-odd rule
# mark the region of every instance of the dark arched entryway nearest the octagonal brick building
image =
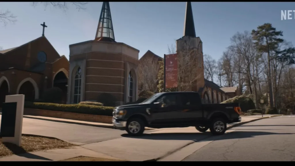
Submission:
POLYGON ((66 103, 67 101, 67 87, 68 84, 68 78, 66 77, 65 73, 63 71, 58 72, 53 80, 53 87, 58 87, 63 91, 62 96, 62 103, 66 103))

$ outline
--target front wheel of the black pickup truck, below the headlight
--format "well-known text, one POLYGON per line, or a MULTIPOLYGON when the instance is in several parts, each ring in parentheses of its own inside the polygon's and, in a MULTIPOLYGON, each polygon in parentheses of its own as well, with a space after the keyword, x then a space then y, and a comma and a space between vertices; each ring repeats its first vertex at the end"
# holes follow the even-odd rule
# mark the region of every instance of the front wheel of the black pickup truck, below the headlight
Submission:
POLYGON ((128 120, 126 131, 132 136, 140 136, 145 131, 145 123, 140 118, 128 120))

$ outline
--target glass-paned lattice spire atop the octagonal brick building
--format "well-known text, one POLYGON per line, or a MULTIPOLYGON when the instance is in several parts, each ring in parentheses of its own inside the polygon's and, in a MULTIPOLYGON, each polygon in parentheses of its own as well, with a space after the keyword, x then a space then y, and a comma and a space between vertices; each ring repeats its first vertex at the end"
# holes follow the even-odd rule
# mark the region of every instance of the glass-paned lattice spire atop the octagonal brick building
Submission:
POLYGON ((115 42, 115 35, 109 2, 102 3, 95 40, 115 42))

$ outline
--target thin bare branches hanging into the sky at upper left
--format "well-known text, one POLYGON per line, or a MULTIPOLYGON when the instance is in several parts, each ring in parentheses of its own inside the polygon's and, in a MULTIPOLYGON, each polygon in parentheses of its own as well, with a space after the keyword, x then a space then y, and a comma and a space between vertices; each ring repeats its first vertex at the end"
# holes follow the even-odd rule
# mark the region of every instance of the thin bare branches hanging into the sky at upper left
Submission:
MULTIPOLYGON (((86 9, 84 6, 88 4, 88 2, 32 2, 32 6, 37 6, 39 4, 43 4, 45 8, 47 6, 53 6, 54 8, 61 9, 64 12, 68 10, 69 5, 73 5, 78 10, 86 9)), ((9 22, 14 23, 17 21, 17 16, 13 15, 9 10, 2 11, 0 10, 0 23, 3 23, 6 26, 9 22)))

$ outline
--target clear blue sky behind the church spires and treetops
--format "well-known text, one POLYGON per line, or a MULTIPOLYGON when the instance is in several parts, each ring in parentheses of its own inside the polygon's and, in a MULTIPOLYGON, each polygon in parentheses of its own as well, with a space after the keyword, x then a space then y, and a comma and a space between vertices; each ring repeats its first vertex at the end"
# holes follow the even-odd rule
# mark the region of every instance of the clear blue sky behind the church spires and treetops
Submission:
MULTIPOLYGON (((68 58, 69 45, 93 40, 102 2, 89 2, 86 10, 74 6, 63 12, 53 7, 36 7, 32 2, 0 2, 0 10, 9 9, 17 22, 0 25, 0 46, 8 49, 42 35, 60 55, 68 58)), ((183 35, 185 2, 110 2, 117 42, 162 56, 168 45, 183 35)), ((281 10, 295 10, 294 2, 192 2, 196 35, 203 41, 203 52, 216 60, 230 45, 236 32, 251 31, 264 23, 282 30, 284 39, 295 43, 295 19, 281 20, 281 10)), ((292 13, 294 14, 294 13, 292 13)))

